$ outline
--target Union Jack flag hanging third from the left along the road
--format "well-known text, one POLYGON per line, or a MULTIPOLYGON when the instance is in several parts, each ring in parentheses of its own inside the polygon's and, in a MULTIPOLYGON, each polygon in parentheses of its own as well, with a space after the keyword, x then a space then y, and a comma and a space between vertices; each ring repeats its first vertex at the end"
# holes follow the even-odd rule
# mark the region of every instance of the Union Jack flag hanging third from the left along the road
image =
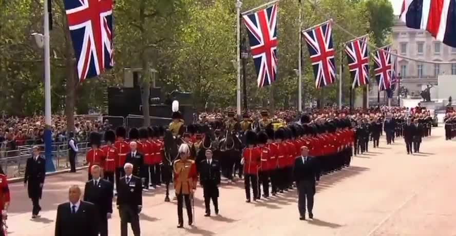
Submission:
POLYGON ((321 88, 334 83, 336 78, 336 63, 330 22, 302 31, 309 48, 315 75, 315 87, 321 88))

